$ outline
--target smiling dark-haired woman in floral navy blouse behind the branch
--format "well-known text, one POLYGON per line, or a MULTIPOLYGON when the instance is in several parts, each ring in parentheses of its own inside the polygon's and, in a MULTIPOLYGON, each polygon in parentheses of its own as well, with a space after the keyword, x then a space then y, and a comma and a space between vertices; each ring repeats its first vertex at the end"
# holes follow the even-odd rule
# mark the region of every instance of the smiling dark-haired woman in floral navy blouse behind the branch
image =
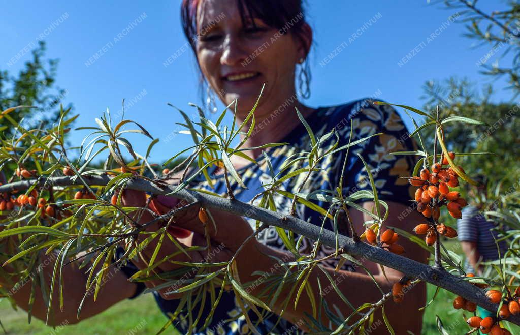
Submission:
MULTIPOLYGON (((405 212, 411 199, 410 189, 405 179, 398 176, 409 176, 413 162, 405 157, 388 155, 388 151, 415 150, 411 139, 398 141, 397 138, 407 138, 406 128, 399 119, 397 113, 391 108, 380 108, 370 104, 369 100, 358 100, 349 102, 341 106, 311 108, 305 106, 296 99, 296 68, 305 62, 308 56, 313 33, 309 25, 305 22, 301 0, 184 0, 182 5, 182 17, 185 32, 196 55, 201 79, 216 92, 218 98, 224 104, 230 104, 238 98, 236 110, 237 122, 243 121, 251 110, 258 98, 258 93, 263 83, 266 88, 262 94, 260 103, 255 111, 257 127, 254 136, 245 141, 244 147, 257 147, 266 143, 287 142, 285 145, 275 149, 266 150, 271 164, 276 171, 280 169, 280 163, 284 158, 298 151, 305 151, 309 148, 308 136, 301 121, 298 119, 295 109, 297 108, 311 125, 315 134, 320 137, 323 134, 336 128, 342 144, 346 144, 350 132, 350 121, 354 126, 353 140, 366 137, 368 135, 384 132, 385 135, 374 136, 353 148, 349 153, 348 164, 344 175, 343 194, 349 194, 360 189, 370 189, 367 182, 366 171, 357 153, 365 158, 371 165, 375 183, 378 187, 380 198, 385 200, 390 208, 390 214, 386 221, 389 225, 400 226, 410 229, 419 223, 421 217, 419 213, 413 211, 406 220, 400 221, 397 217, 405 212), (406 223, 406 224, 405 224, 406 223)), ((308 88, 308 69, 303 67, 303 72, 298 74, 303 79, 300 88, 308 88)), ((301 89, 303 95, 307 95, 307 89, 301 89)), ((326 142, 326 148, 332 141, 326 142)), ((235 184, 231 184, 233 194, 238 200, 250 201, 257 192, 261 183, 268 180, 266 161, 263 158, 262 150, 252 149, 245 151, 257 164, 251 164, 248 160, 232 156, 232 163, 243 177, 243 181, 248 186, 243 189, 235 184)), ((313 175, 313 178, 305 184, 302 192, 315 189, 335 189, 339 185, 342 175, 342 165, 345 153, 329 156, 321 166, 321 172, 313 175)), ((224 183, 222 171, 212 171, 215 178, 215 189, 219 194, 226 194, 227 189, 224 183)), ((172 180, 175 182, 175 178, 172 180)), ((301 180, 292 178, 284 183, 284 187, 289 191, 296 191, 301 185, 301 180)), ((192 187, 200 189, 210 189, 202 180, 196 181, 192 187)), ((144 207, 146 196, 141 192, 125 191, 123 201, 126 205, 136 205, 144 207)), ((257 201, 255 202, 257 203, 257 201)), ((158 213, 165 213, 170 208, 175 207, 178 201, 172 197, 159 197, 151 202, 150 207, 158 213)), ((277 210, 289 212, 291 200, 278 197, 275 198, 277 210)), ((318 203, 323 207, 327 204, 318 203)), ((371 210, 373 202, 362 203, 363 207, 371 210)), ((182 217, 176 219, 176 227, 171 231, 178 237, 179 241, 186 246, 205 245, 204 227, 197 218, 197 208, 191 212, 184 213, 182 217), (185 234, 186 230, 193 231, 193 234, 185 234)), ((176 261, 209 261, 222 262, 228 261, 230 257, 241 246, 242 242, 253 233, 254 222, 248 222, 243 217, 238 217, 226 212, 211 211, 216 222, 216 230, 211 227, 210 236, 213 250, 218 250, 210 254, 209 252, 191 252, 190 257, 183 253, 174 257, 176 261)), ((361 233, 364 230, 363 222, 371 220, 360 211, 351 212, 356 230, 361 233)), ((312 223, 320 224, 322 219, 315 212, 309 211, 305 207, 297 205, 295 208, 296 216, 309 220, 312 223)), ((152 216, 149 213, 142 214, 141 222, 150 221, 152 216)), ((330 224, 330 223, 329 223, 330 224)), ((152 226, 149 230, 157 230, 159 225, 152 226)), ((330 226, 327 228, 331 229, 330 226)), ((165 239, 166 242, 159 252, 158 259, 170 255, 178 249, 174 243, 165 239)), ((407 255, 420 262, 426 261, 424 250, 415 246, 413 243, 403 242, 407 250, 407 255)), ((312 248, 312 242, 304 240, 301 244, 301 251, 308 252, 312 248)), ((149 258, 155 246, 150 243, 144 250, 144 260, 133 260, 136 268, 145 268, 145 262, 149 258)), ((322 248, 321 255, 330 254, 332 250, 322 248)), ((266 229, 257 239, 251 239, 238 254, 236 259, 237 270, 242 283, 255 282, 251 287, 250 294, 258 299, 269 303, 269 298, 261 294, 265 288, 265 282, 254 272, 275 273, 280 266, 276 261, 291 261, 293 256, 283 249, 282 243, 276 237, 272 228, 266 229)), ((355 266, 345 264, 339 272, 334 272, 333 267, 337 260, 328 264, 323 264, 324 269, 334 278, 335 284, 344 293, 348 300, 355 306, 365 302, 377 302, 381 299, 379 290, 375 287, 372 279, 364 274, 357 272, 355 266)), ((388 291, 392 284, 399 280, 402 274, 393 269, 385 268, 384 273, 381 268, 371 262, 363 262, 374 278, 385 291, 388 291)), ((99 294, 98 301, 94 303, 92 298, 87 299, 82 307, 82 318, 93 316, 116 302, 127 298, 136 297, 141 287, 129 282, 127 277, 137 269, 132 265, 123 268, 121 272, 111 277, 102 288, 110 294, 99 294)), ((163 263, 156 270, 158 272, 168 272, 180 266, 163 263)), ((50 272, 52 266, 47 266, 44 271, 50 272)), ((58 305, 55 308, 53 323, 59 325, 63 320, 69 323, 76 321, 75 306, 79 305, 83 297, 86 277, 83 273, 73 267, 65 269, 64 276, 68 279, 65 284, 65 297, 67 299, 63 312, 60 312, 58 305), (69 283, 74 283, 69 284, 69 283)), ((309 282, 314 289, 314 296, 324 298, 327 305, 334 310, 333 305, 344 316, 352 313, 352 309, 346 305, 331 287, 322 287, 318 290, 318 279, 322 286, 327 286, 329 280, 318 268, 314 268, 309 275, 309 282), (328 289, 328 290, 327 290, 328 289)), ((163 281, 152 280, 146 282, 146 286, 155 287, 163 281)), ((156 299, 164 313, 174 312, 179 302, 181 294, 171 294, 176 287, 168 287, 159 290, 156 299)), ((283 287, 280 297, 289 297, 291 287, 283 287)), ((24 286, 19 289, 14 298, 24 308, 27 308, 30 288, 24 286)), ((272 293, 271 293, 272 294, 272 293)), ((308 318, 306 315, 312 314, 311 303, 307 294, 302 294, 298 301, 297 308, 294 308, 294 297, 290 301, 281 315, 283 299, 278 299, 271 304, 273 313, 267 315, 263 321, 258 321, 257 331, 259 333, 295 333, 296 329, 309 331, 308 318)), ((418 311, 425 302, 425 287, 419 285, 413 289, 412 294, 407 294, 399 307, 394 302, 387 302, 386 314, 391 320, 391 324, 397 334, 404 334, 412 331, 415 334, 421 332, 422 314, 418 311)), ((181 332, 200 332, 200 333, 241 333, 247 332, 248 326, 245 317, 239 316, 240 309, 232 291, 223 293, 222 301, 215 310, 213 319, 206 329, 190 329, 190 319, 187 312, 183 311, 176 321, 176 327, 181 332), (233 317, 234 320, 229 321, 233 317)), ((56 303, 57 304, 57 303, 56 303)), ((47 308, 42 302, 41 293, 37 292, 37 301, 33 308, 33 314, 39 318, 45 318, 47 308)), ((199 306, 192 306, 191 311, 198 311, 199 306)), ((207 305, 202 316, 202 320, 211 310, 211 305, 207 305)), ((251 311, 250 311, 251 312, 251 311)), ((322 324, 330 326, 330 320, 326 314, 322 314, 322 324)), ((254 324, 258 318, 255 313, 248 313, 254 324)), ((381 320, 381 315, 376 313, 374 320, 381 320)), ((383 323, 375 328, 372 333, 387 333, 383 323)), ((198 326, 200 327, 202 323, 198 326)), ((331 329, 335 328, 330 326, 331 329)))

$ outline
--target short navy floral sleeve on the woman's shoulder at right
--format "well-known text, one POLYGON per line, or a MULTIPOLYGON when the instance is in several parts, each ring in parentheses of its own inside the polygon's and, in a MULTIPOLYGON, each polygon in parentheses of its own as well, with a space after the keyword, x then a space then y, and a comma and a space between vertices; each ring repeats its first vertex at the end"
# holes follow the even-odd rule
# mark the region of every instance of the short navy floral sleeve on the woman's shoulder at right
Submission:
MULTIPOLYGON (((359 111, 352 119, 353 141, 376 133, 382 134, 350 148, 344 172, 343 194, 353 194, 359 190, 372 191, 367 170, 358 156, 360 154, 370 168, 379 199, 408 206, 413 199, 415 187, 407 179, 400 177, 411 176, 418 157, 390 153, 416 151, 417 143, 408 136, 406 126, 394 108, 375 106, 371 100, 363 101, 365 107, 358 107, 359 111)), ((344 134, 340 134, 345 143, 348 143, 349 133, 350 127, 347 126, 344 134)), ((337 181, 339 182, 339 178, 337 181)))

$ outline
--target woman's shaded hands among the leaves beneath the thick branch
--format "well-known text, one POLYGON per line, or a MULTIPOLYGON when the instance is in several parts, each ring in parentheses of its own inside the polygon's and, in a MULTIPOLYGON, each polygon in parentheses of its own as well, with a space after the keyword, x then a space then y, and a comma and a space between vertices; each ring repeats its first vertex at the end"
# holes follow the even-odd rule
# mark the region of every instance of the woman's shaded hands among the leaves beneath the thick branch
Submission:
MULTIPOLYGON (((144 192, 125 190, 122 195, 122 202, 125 206, 131 207, 145 207, 147 199, 144 192)), ((174 208, 181 207, 184 203, 174 197, 158 196, 151 199, 149 208, 157 214, 166 214, 174 208)), ((175 216, 175 221, 168 226, 166 232, 171 235, 172 239, 175 239, 183 248, 190 246, 202 246, 203 250, 192 250, 186 251, 186 253, 179 251, 180 249, 175 245, 174 242, 168 237, 163 238, 162 246, 155 258, 155 264, 157 264, 164 257, 170 256, 174 253, 178 253, 175 256, 168 258, 168 261, 160 264, 154 269, 155 273, 160 275, 161 273, 171 272, 172 270, 183 267, 184 265, 174 264, 169 261, 176 262, 190 262, 190 263, 217 263, 227 262, 236 253, 238 248, 243 242, 253 234, 253 229, 242 217, 236 216, 227 212, 220 212, 211 210, 211 214, 215 219, 215 224, 210 220, 206 225, 199 220, 198 212, 199 207, 194 206, 187 211, 180 213, 175 216), (209 239, 206 239, 206 236, 209 239), (207 241, 210 241, 211 248, 207 248, 207 241)), ((153 220, 153 216, 145 211, 139 218, 140 224, 145 224, 153 220)), ((152 232, 157 231, 164 227, 165 222, 152 224, 147 227, 146 231, 152 232)), ((140 234, 139 243, 144 241, 149 235, 140 234)), ((145 269, 148 267, 148 262, 157 247, 159 236, 153 239, 145 247, 142 248, 140 256, 132 260, 132 262, 139 268, 145 269)), ((237 257, 237 263, 241 262, 243 255, 248 255, 249 263, 252 255, 258 254, 257 248, 259 244, 255 238, 243 247, 240 252, 241 257, 237 257), (253 254, 252 254, 253 253, 253 254)), ((239 268, 247 270, 249 273, 253 272, 252 269, 245 269, 239 265, 239 268), (251 271, 250 271, 251 270, 251 271)), ((216 270, 212 269, 212 270, 216 270)), ((193 277, 198 272, 198 268, 194 267, 182 278, 184 280, 193 277)), ((153 272, 152 272, 153 274, 153 272)), ((244 277, 246 279, 246 277, 244 277)), ((153 288, 155 286, 164 284, 171 280, 170 278, 155 279, 145 282, 147 287, 153 288)), ((177 286, 170 286, 159 290, 163 299, 171 300, 180 298, 182 293, 174 294, 173 291, 187 285, 188 282, 184 283, 183 279, 180 280, 180 284, 177 286)))

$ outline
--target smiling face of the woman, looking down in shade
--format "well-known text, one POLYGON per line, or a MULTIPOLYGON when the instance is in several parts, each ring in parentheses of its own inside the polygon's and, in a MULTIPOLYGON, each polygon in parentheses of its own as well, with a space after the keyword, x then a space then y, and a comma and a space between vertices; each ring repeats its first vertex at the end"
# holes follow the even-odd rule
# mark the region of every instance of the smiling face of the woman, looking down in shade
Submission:
POLYGON ((295 65, 305 57, 301 43, 291 34, 281 35, 254 20, 256 29, 251 22, 242 24, 236 0, 204 0, 197 9, 200 68, 226 105, 238 98, 239 115, 251 110, 264 83, 259 105, 264 113, 287 100, 296 101, 295 65))

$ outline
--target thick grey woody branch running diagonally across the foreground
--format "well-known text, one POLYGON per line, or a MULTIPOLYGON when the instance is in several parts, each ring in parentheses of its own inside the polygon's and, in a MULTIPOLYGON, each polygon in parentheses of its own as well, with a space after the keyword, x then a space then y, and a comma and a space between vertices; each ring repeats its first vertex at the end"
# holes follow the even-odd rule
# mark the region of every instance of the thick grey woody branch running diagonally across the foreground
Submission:
MULTIPOLYGON (((110 181, 108 176, 86 176, 85 182, 89 185, 102 186, 110 181)), ((12 190, 24 190, 29 188, 35 180, 21 181, 12 184, 0 185, 0 192, 8 192, 12 190)), ((72 181, 70 177, 56 177, 50 179, 41 179, 38 184, 43 185, 83 185, 79 179, 72 181), (47 183, 47 184, 46 184, 47 183)), ((125 186, 129 189, 151 192, 154 195, 166 195, 175 189, 173 185, 161 184, 154 185, 144 179, 134 179, 128 182, 125 186)), ((320 236, 320 226, 300 220, 294 216, 285 213, 277 213, 262 208, 257 208, 253 205, 227 198, 216 197, 199 192, 189 191, 186 189, 180 190, 175 194, 175 197, 187 201, 198 201, 204 208, 216 209, 220 211, 229 212, 241 216, 248 216, 255 220, 259 220, 266 225, 277 226, 283 229, 293 231, 298 235, 305 236, 311 240, 318 240, 320 236), (247 213, 247 214, 246 214, 247 213)), ((320 236, 321 243, 326 246, 335 248, 335 234, 333 231, 323 229, 320 236)), ((378 263, 405 274, 411 278, 419 278, 423 281, 429 282, 435 286, 448 290, 454 294, 460 295, 467 301, 476 303, 479 306, 486 308, 486 310, 493 313, 497 312, 497 304, 492 304, 484 295, 484 290, 477 288, 475 285, 462 280, 461 277, 453 276, 445 270, 439 270, 426 264, 410 260, 406 257, 388 252, 382 248, 371 246, 363 242, 355 242, 352 238, 339 235, 339 246, 343 248, 345 253, 353 256, 363 257, 374 263, 378 263)), ((516 325, 520 325, 520 316, 511 315, 508 321, 516 325)))

